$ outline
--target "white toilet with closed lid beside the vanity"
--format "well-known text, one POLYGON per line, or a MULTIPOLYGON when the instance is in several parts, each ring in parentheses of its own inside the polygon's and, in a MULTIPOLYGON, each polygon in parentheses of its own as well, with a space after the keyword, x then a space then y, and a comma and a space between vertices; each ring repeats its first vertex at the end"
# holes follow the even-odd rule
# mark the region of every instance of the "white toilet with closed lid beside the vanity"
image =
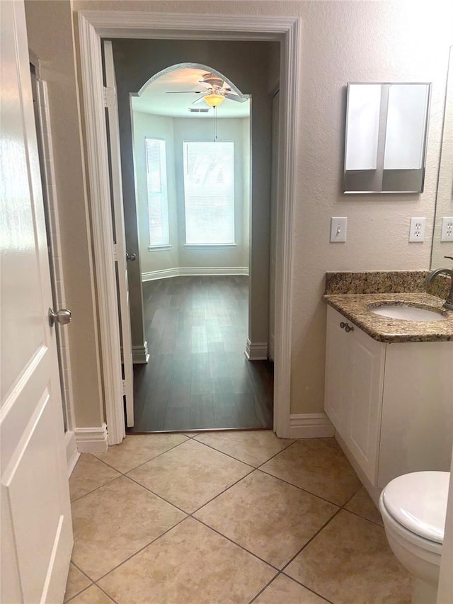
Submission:
POLYGON ((389 545, 415 577, 412 604, 436 603, 449 478, 449 472, 404 474, 379 498, 389 545))

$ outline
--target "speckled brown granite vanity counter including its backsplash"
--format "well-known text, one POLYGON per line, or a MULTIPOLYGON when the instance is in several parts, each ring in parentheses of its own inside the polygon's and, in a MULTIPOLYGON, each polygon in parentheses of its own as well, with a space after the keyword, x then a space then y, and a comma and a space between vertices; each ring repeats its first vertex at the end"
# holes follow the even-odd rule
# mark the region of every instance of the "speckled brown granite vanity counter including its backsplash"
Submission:
POLYGON ((439 280, 433 284, 435 289, 430 288, 427 293, 426 275, 428 271, 423 270, 326 273, 323 300, 379 342, 453 341, 453 311, 442 308, 448 282, 439 280), (386 302, 434 310, 447 318, 445 321, 404 321, 370 312, 370 306, 386 302))

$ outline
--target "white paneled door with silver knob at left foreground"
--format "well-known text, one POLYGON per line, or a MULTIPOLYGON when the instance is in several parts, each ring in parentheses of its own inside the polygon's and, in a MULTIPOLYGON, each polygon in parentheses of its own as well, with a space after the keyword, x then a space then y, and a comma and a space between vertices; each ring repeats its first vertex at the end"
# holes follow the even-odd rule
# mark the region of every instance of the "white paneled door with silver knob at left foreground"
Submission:
POLYGON ((1 602, 62 602, 72 548, 23 2, 0 1, 1 602))

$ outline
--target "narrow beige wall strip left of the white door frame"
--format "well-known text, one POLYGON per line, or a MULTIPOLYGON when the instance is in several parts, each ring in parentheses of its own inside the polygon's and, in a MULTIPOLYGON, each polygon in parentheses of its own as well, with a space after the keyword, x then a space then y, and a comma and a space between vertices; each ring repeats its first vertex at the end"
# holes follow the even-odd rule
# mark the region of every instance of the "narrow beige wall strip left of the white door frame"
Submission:
POLYGON ((76 426, 100 426, 104 412, 71 3, 30 1, 25 13, 29 47, 49 91, 64 287, 73 317, 67 333, 76 426))

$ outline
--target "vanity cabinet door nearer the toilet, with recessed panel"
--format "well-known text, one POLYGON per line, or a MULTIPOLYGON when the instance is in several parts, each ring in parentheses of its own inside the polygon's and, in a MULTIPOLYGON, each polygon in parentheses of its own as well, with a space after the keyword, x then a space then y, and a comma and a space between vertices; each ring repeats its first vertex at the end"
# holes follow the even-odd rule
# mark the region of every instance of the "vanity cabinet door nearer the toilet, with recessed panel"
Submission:
POLYGON ((376 484, 386 344, 358 327, 347 335, 349 415, 344 438, 369 481, 376 484))

